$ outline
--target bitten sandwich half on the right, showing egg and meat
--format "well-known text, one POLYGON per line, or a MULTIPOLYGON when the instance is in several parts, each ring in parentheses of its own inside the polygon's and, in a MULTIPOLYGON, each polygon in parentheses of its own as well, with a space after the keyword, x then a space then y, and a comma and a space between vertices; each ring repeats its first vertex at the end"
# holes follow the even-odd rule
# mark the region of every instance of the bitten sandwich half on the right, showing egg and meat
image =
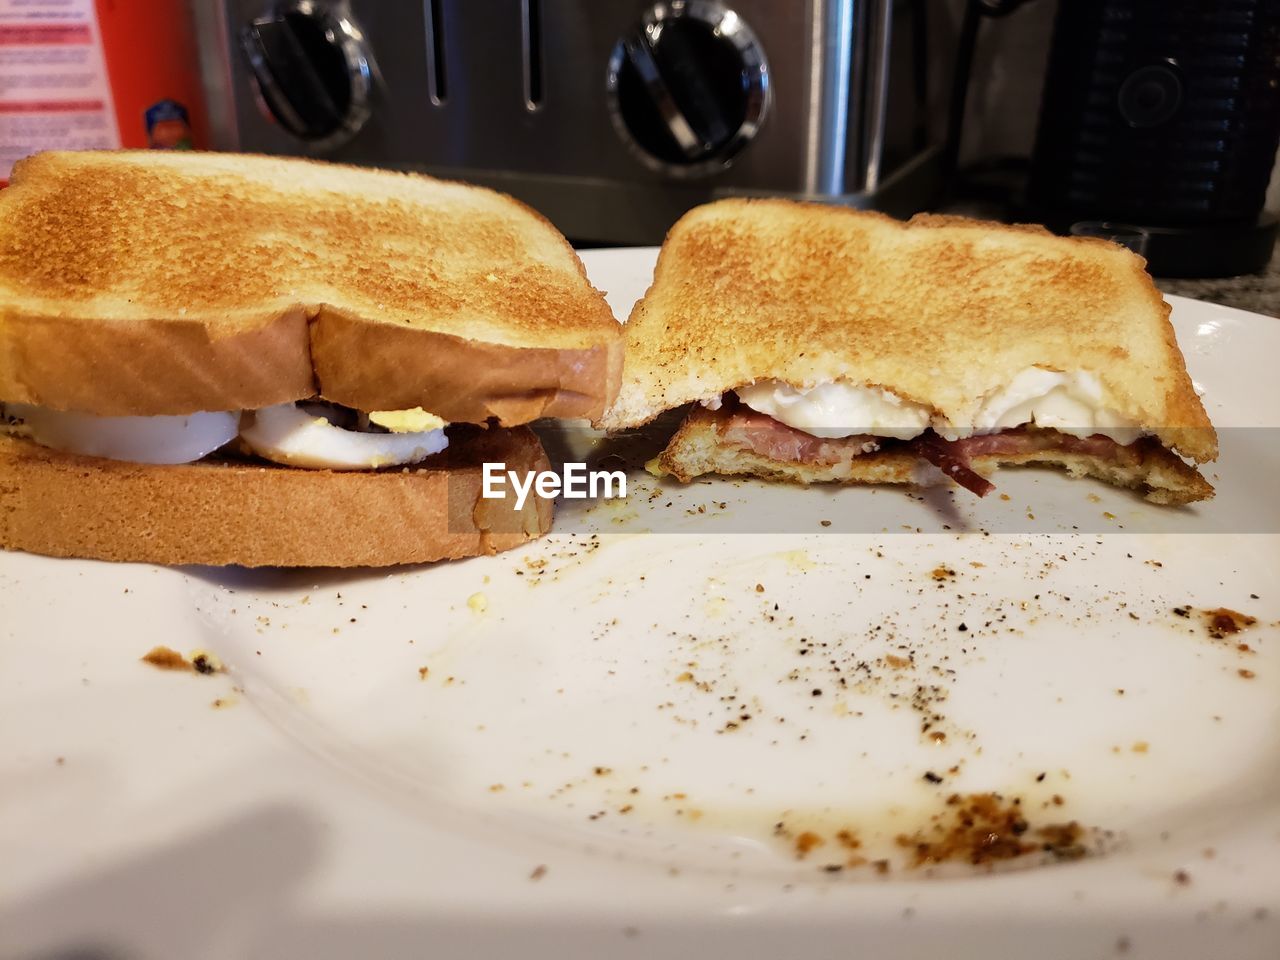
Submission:
POLYGON ((1100 239, 781 200, 667 236, 626 324, 622 430, 694 404, 652 465, 846 484, 959 484, 1052 465, 1161 504, 1217 456, 1144 261, 1100 239))

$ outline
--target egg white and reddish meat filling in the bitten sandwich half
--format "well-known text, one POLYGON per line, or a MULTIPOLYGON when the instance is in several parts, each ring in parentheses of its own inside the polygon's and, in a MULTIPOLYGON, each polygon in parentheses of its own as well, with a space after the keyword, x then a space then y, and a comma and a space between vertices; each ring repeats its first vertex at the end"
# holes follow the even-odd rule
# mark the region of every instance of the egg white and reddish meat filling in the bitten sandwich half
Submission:
POLYGON ((758 380, 733 394, 736 399, 705 404, 722 411, 719 435, 730 447, 819 466, 908 449, 979 497, 995 488, 972 468, 973 458, 1056 451, 1114 460, 1147 433, 1108 407, 1102 385, 1085 371, 1028 367, 989 393, 965 422, 882 387, 850 381, 797 389, 758 380))

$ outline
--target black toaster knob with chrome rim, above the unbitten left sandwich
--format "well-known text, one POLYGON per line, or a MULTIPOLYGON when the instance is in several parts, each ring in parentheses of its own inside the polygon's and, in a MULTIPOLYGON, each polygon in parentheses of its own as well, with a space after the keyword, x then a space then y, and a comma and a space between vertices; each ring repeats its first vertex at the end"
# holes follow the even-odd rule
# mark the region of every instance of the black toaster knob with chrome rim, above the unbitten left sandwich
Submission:
POLYGON ((241 47, 269 114, 312 147, 344 143, 369 119, 371 56, 346 13, 276 5, 244 27, 241 47))

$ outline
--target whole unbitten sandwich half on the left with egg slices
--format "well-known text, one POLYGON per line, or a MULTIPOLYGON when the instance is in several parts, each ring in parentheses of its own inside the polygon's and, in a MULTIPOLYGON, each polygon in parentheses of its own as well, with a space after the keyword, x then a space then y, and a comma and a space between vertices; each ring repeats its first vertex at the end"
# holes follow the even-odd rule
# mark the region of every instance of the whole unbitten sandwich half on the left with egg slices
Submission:
POLYGON ((481 497, 598 417, 620 325, 493 191, 305 160, 50 152, 0 192, 0 547, 384 566, 547 531, 481 497))

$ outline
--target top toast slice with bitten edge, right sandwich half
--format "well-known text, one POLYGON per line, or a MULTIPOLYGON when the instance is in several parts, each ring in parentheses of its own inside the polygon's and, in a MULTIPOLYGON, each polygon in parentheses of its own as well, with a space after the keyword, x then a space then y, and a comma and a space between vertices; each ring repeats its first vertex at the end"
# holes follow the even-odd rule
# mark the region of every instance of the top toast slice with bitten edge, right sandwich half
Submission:
POLYGON ((723 200, 667 236, 626 325, 605 429, 759 379, 847 380, 972 424, 1038 366, 1085 371, 1107 406, 1203 462, 1217 438, 1143 260, 1106 241, 946 216, 909 223, 723 200))

